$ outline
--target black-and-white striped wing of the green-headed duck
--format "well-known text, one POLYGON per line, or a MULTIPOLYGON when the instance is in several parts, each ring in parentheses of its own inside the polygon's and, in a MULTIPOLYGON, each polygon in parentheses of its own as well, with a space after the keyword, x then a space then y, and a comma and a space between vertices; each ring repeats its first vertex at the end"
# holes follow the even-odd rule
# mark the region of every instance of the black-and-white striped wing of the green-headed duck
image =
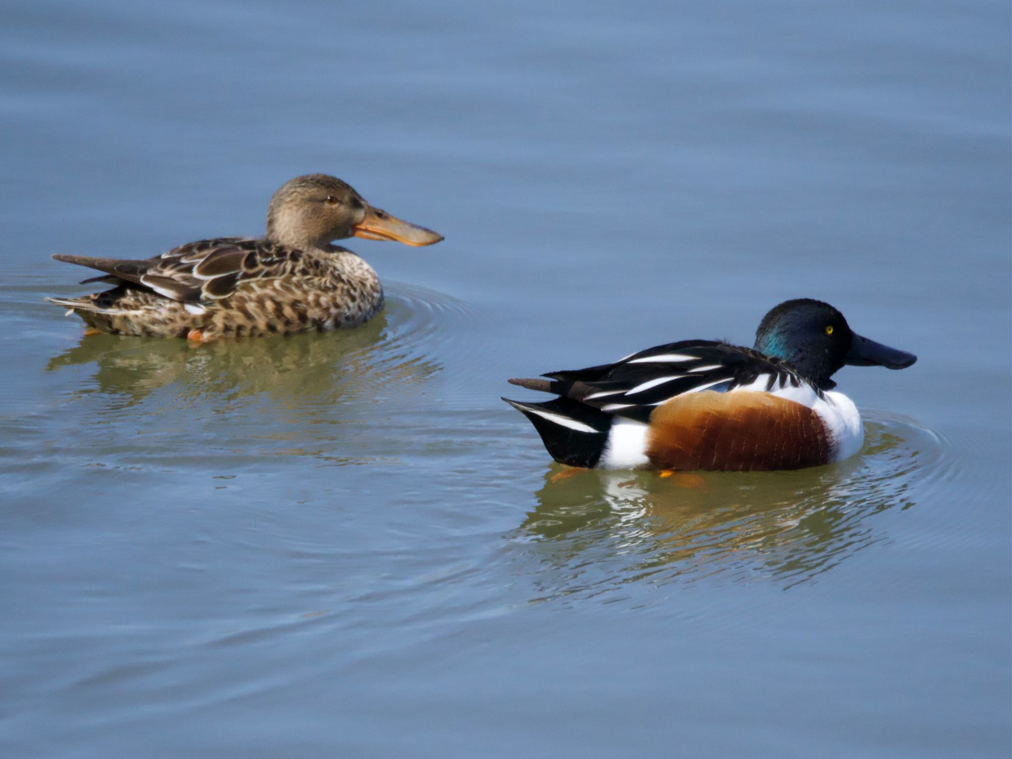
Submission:
POLYGON ((686 393, 746 388, 777 391, 808 384, 789 365, 749 348, 712 340, 658 345, 614 363, 552 371, 549 380, 510 380, 615 416, 647 422, 658 406, 686 393))

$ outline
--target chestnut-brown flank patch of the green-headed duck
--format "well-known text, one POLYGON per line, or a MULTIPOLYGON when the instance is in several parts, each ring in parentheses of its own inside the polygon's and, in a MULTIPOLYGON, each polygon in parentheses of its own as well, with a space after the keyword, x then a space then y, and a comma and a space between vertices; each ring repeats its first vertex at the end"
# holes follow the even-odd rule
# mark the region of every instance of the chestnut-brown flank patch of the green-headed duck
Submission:
POLYGON ((793 401, 740 391, 687 393, 651 415, 647 456, 676 471, 790 470, 828 463, 826 425, 793 401))

